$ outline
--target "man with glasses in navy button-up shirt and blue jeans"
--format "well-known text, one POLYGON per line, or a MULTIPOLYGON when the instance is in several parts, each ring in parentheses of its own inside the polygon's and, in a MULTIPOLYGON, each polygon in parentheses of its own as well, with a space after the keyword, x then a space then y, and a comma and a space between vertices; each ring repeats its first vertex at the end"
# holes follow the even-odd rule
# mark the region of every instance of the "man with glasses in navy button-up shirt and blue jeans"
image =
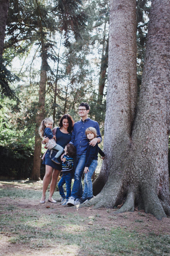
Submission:
POLYGON ((90 144, 92 146, 95 146, 96 143, 100 143, 100 141, 102 140, 99 124, 96 121, 88 118, 88 113, 90 111, 90 106, 88 105, 88 103, 82 102, 79 105, 78 111, 81 120, 74 124, 70 141, 70 143, 73 143, 76 147, 76 158, 74 159, 74 184, 71 196, 67 202, 68 206, 80 204, 80 198, 82 197, 83 190, 81 179, 85 168, 86 151, 89 143, 85 135, 85 130, 88 127, 94 127, 97 130, 97 138, 94 138, 90 141, 90 144))

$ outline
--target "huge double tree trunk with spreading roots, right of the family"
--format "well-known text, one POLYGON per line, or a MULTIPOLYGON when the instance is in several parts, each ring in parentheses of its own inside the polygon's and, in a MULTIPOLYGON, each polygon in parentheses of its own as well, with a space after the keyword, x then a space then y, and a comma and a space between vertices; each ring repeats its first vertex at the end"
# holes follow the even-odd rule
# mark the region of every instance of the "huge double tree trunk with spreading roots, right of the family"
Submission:
POLYGON ((134 27, 135 2, 111 0, 109 82, 104 138, 107 158, 102 167, 102 173, 108 174, 108 181, 88 205, 114 207, 126 198, 117 212, 133 211, 136 204, 139 209, 161 219, 166 214, 170 215, 170 2, 152 1, 139 106, 133 122, 136 104, 133 92, 136 89, 131 78, 136 75, 130 73, 130 67, 134 65, 131 61, 133 53, 127 46, 131 47, 132 44, 129 35, 133 38, 134 30, 131 30, 134 27), (121 13, 124 13, 122 19, 121 13), (128 21, 133 24, 131 27, 128 21), (118 30, 124 26, 127 28, 120 31, 118 39, 118 30), (125 48, 122 52, 117 52, 123 45, 125 48), (120 68, 122 62, 124 65, 120 68))

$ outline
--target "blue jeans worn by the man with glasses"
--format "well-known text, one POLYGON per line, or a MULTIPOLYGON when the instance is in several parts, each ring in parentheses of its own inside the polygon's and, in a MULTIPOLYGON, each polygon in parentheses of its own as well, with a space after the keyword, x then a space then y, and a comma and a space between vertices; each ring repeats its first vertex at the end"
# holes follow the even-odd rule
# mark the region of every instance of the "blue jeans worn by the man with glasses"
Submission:
POLYGON ((71 191, 71 198, 81 198, 83 193, 82 188, 82 175, 85 168, 86 155, 76 155, 74 159, 74 184, 71 191))

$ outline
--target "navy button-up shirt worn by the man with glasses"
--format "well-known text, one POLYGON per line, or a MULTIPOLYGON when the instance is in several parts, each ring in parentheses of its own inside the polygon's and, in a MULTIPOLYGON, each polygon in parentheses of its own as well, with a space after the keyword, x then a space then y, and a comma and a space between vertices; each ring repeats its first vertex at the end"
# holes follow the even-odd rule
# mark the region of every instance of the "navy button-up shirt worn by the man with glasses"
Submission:
POLYGON ((85 130, 88 127, 96 128, 97 138, 99 137, 100 141, 102 141, 99 124, 96 121, 91 120, 90 118, 87 118, 84 121, 82 121, 82 119, 81 119, 80 121, 78 121, 74 124, 71 141, 70 141, 76 147, 77 155, 86 154, 89 140, 85 135, 85 130))

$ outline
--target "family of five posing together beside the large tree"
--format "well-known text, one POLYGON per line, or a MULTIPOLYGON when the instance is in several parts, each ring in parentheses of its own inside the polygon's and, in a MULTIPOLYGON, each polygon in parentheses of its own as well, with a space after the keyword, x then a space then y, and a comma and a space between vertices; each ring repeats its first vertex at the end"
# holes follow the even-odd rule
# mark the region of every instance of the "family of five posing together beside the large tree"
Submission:
POLYGON ((43 164, 46 168, 40 203, 45 203, 45 194, 50 180, 48 201, 57 203, 53 199, 53 193, 60 171, 63 173, 58 184, 62 198, 60 204, 74 206, 94 197, 91 176, 97 167, 98 152, 102 159, 105 154, 98 146, 102 141, 99 124, 88 118, 89 111, 88 103, 80 103, 78 109, 80 121, 74 123, 73 118, 66 114, 60 119, 59 127, 53 130, 51 130, 53 120, 45 118, 42 121, 39 133, 47 151, 43 155, 43 164), (84 189, 82 188, 83 171, 85 172, 84 189), (74 178, 74 184, 71 191, 72 178, 74 178), (63 184, 66 184, 66 196, 63 184))

